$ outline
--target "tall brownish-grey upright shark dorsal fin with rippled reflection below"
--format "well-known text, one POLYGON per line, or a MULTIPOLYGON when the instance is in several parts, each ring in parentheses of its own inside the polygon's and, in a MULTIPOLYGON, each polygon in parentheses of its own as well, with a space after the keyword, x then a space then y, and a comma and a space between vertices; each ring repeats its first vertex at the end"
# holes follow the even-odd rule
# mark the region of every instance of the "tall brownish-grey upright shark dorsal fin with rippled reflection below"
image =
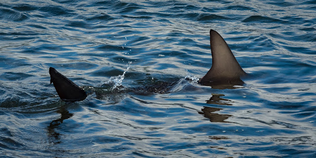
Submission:
POLYGON ((200 79, 200 82, 202 84, 206 82, 231 84, 235 81, 241 81, 240 76, 246 75, 246 73, 240 67, 226 41, 214 30, 210 30, 209 34, 212 51, 212 67, 206 75, 200 79))

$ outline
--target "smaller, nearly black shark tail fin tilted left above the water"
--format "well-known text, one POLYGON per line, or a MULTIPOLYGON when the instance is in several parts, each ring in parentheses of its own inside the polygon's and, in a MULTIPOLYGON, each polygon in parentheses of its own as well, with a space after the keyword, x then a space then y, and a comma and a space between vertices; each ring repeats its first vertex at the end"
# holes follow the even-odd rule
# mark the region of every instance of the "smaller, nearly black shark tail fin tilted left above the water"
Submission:
POLYGON ((56 69, 49 68, 50 83, 53 83, 57 94, 63 101, 75 102, 84 100, 87 94, 78 85, 65 76, 61 75, 56 69))

